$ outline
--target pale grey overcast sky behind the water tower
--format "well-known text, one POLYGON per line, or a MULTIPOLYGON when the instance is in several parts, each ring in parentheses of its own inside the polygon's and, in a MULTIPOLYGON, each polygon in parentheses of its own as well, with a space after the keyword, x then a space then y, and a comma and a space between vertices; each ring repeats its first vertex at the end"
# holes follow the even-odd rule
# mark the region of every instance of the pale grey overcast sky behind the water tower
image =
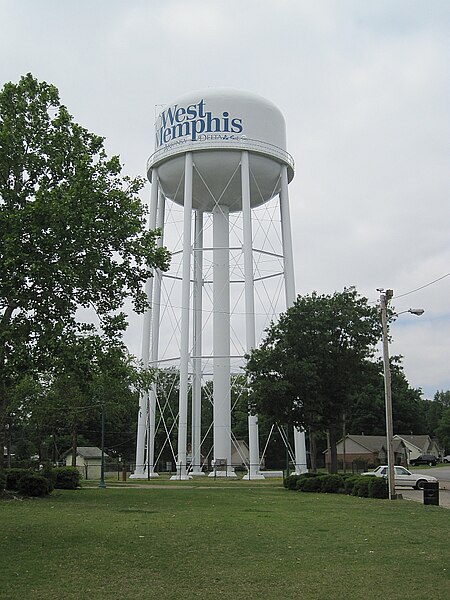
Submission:
POLYGON ((391 353, 425 397, 450 389, 449 58, 448 0, 0 0, 2 84, 55 84, 131 175, 157 105, 206 87, 274 102, 297 292, 392 288, 398 312, 424 308, 391 353))

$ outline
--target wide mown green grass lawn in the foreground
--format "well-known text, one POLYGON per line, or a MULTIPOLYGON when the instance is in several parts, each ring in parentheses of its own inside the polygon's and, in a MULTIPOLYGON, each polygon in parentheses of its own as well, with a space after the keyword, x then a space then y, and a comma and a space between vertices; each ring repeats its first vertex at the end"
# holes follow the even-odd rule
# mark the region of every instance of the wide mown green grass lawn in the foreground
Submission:
POLYGON ((450 511, 152 481, 0 501, 0 597, 448 600, 450 511))

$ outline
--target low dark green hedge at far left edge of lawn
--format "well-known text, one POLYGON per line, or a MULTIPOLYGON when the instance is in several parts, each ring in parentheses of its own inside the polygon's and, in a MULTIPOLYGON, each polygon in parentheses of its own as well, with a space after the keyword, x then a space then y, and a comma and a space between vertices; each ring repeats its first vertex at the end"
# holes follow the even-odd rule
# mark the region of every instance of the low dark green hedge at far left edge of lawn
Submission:
POLYGON ((75 490, 80 486, 80 472, 76 467, 32 469, 5 469, 0 473, 0 489, 19 492, 24 496, 46 496, 54 488, 75 490))

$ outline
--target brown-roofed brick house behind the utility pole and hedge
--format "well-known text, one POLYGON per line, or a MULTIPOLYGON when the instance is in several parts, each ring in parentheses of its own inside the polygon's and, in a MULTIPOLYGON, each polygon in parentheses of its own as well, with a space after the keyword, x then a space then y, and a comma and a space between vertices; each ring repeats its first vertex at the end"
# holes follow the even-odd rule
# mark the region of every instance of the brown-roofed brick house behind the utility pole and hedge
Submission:
MULTIPOLYGON (((336 444, 338 461, 348 465, 366 463, 380 465, 387 462, 387 444, 384 435, 350 435, 341 438, 336 444)), ((325 451, 326 465, 330 464, 331 453, 325 451)), ((402 439, 394 439, 394 462, 397 465, 408 464, 408 448, 402 439)))

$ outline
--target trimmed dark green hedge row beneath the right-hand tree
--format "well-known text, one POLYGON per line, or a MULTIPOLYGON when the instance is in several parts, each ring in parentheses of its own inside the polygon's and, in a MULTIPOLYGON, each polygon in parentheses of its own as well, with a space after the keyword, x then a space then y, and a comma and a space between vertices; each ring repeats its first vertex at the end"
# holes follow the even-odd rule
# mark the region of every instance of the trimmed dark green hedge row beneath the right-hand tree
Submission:
POLYGON ((360 498, 388 498, 388 485, 383 477, 368 475, 320 475, 302 473, 290 475, 283 485, 288 490, 319 492, 327 494, 349 494, 360 498))

